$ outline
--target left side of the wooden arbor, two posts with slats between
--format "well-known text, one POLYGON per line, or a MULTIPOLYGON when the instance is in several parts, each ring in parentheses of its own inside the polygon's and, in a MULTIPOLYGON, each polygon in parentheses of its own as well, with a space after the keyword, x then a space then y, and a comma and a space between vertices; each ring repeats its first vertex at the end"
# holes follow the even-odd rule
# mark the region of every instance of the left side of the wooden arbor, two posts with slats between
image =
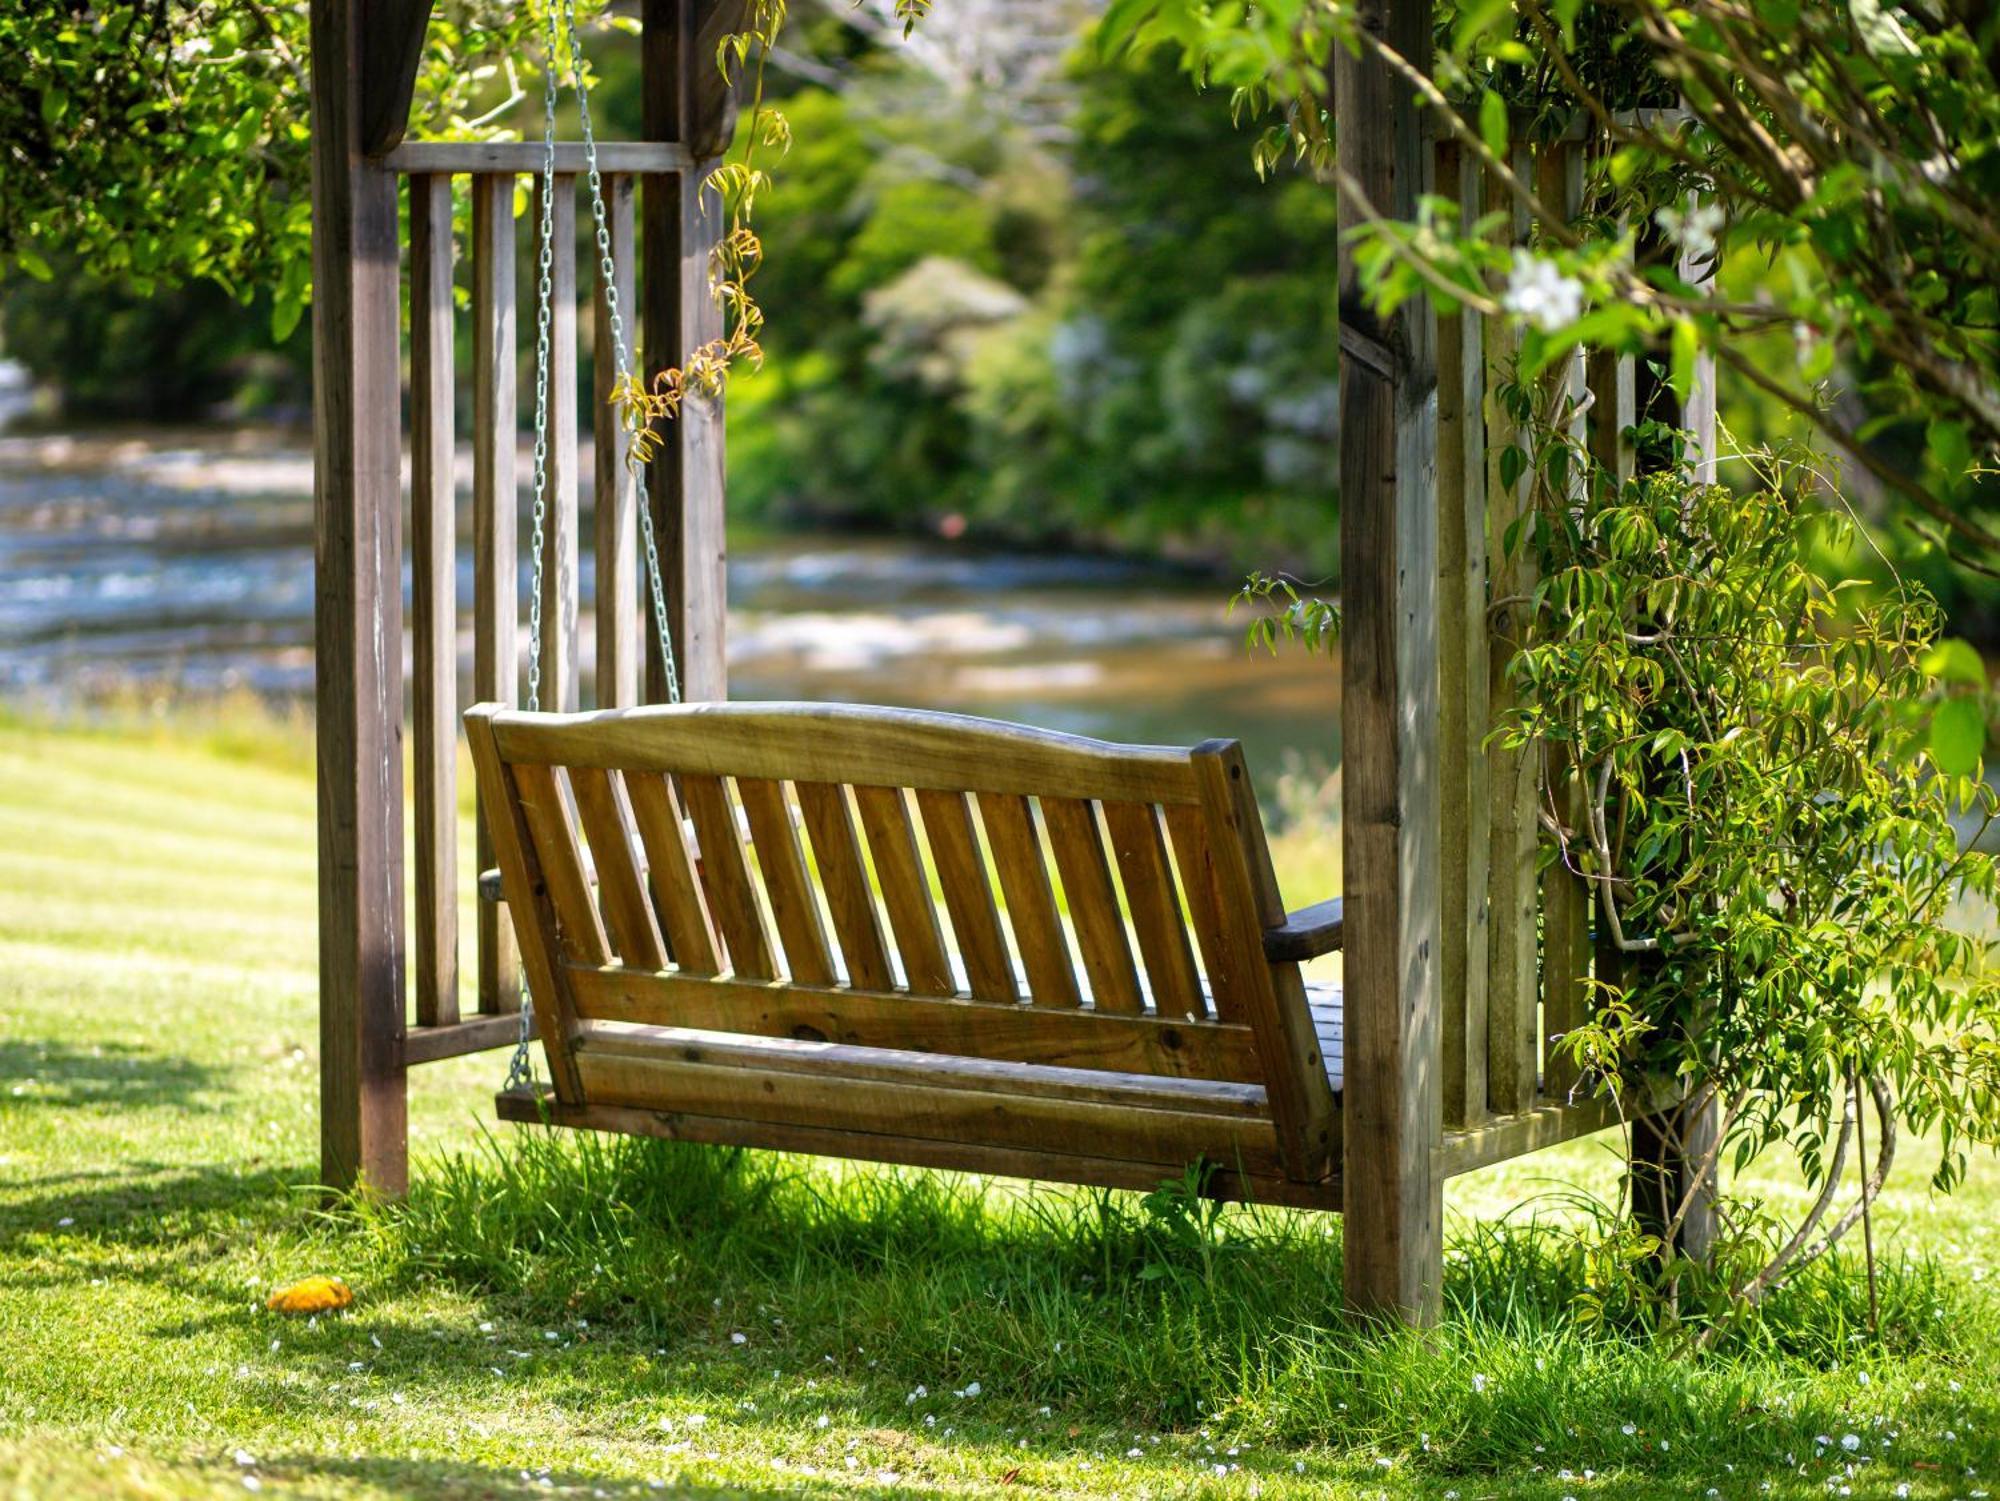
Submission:
MULTIPOLYGON (((648 368, 718 332, 708 294, 714 194, 702 180, 732 110, 716 40, 734 0, 644 0, 644 142, 606 146, 622 288, 648 368), (642 230, 642 232, 640 232, 642 230), (636 300, 634 300, 636 290, 636 300)), ((516 967, 506 919, 482 909, 478 1015, 458 1011, 452 338, 454 180, 472 192, 474 692, 516 696, 516 184, 540 146, 402 144, 430 0, 312 0, 314 640, 320 785, 320 1169, 400 1193, 410 1065, 508 1043, 516 967), (404 184, 406 198, 404 198, 404 184), (408 204, 408 236, 398 204, 408 204), (400 268, 410 268, 410 626, 404 682, 400 268), (410 696, 416 879, 404 889, 404 694, 410 696), (410 943, 414 933, 414 945, 410 943), (414 977, 416 1025, 406 1023, 414 977)), ((576 706, 576 254, 582 152, 558 152, 550 506, 556 566, 544 600, 546 702, 576 706)), ((532 276, 532 266, 528 268, 532 276)), ((598 304, 602 318, 602 302, 598 304)), ((532 338, 532 334, 530 334, 532 338)), ((598 338, 606 392, 608 338, 598 338)), ((596 422, 598 702, 638 702, 636 486, 616 426, 596 422)), ((722 408, 692 398, 648 474, 670 626, 690 698, 724 696, 722 408)), ((656 664, 654 668, 656 670, 656 664)), ((486 841, 482 831, 482 861, 486 841)))

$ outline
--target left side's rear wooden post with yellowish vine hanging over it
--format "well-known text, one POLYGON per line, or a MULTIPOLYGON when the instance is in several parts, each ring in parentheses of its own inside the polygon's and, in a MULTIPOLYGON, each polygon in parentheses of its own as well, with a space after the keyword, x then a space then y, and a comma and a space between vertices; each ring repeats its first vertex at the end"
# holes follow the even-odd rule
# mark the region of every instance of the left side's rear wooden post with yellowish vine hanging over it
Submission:
MULTIPOLYGON (((708 164, 728 146, 730 94, 716 42, 740 0, 644 0, 644 132, 688 142, 686 176, 646 178, 640 204, 644 354, 650 382, 722 334, 710 288, 710 252, 722 238, 722 204, 708 164)), ((684 698, 726 698, 722 534, 722 398, 688 392, 666 442, 646 468, 648 502, 666 576, 668 630, 684 698)), ((646 632, 646 696, 666 692, 654 632, 646 632)))

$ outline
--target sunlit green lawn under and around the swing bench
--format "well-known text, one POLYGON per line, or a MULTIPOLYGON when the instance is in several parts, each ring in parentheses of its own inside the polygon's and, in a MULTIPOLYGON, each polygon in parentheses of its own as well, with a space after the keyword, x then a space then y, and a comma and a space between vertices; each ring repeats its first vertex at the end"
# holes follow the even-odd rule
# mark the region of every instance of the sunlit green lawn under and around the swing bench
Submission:
POLYGON ((500 1055, 326 1211, 312 845, 296 728, 0 722, 0 1497, 2000 1491, 1990 1161, 1906 1165, 1880 1341, 1842 1271, 1700 1363, 1568 1317, 1602 1143, 1450 1187, 1430 1335, 1342 1319, 1334 1217, 522 1133, 500 1055))

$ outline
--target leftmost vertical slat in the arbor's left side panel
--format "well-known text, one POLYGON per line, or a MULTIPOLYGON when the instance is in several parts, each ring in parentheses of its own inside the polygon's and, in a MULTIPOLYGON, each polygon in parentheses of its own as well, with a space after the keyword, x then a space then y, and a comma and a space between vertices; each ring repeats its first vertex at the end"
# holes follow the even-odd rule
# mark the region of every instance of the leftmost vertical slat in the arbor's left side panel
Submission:
POLYGON ((458 524, 452 180, 410 182, 410 738, 416 1021, 458 1021, 458 524))

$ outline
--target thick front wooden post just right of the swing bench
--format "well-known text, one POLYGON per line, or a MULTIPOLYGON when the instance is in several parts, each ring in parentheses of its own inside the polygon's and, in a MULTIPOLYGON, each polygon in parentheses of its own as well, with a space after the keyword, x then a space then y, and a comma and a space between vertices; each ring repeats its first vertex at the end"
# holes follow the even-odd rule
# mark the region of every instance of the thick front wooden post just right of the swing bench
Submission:
MULTIPOLYGON (((1418 0, 1360 0, 1360 26, 1430 66, 1418 0)), ((1366 48, 1334 54, 1340 166, 1374 212, 1416 218, 1432 148, 1418 100, 1366 48)), ((1364 208, 1340 200, 1340 566, 1346 861, 1346 1297, 1432 1321, 1440 1307, 1438 638, 1432 316, 1388 318, 1354 260, 1364 208)))

